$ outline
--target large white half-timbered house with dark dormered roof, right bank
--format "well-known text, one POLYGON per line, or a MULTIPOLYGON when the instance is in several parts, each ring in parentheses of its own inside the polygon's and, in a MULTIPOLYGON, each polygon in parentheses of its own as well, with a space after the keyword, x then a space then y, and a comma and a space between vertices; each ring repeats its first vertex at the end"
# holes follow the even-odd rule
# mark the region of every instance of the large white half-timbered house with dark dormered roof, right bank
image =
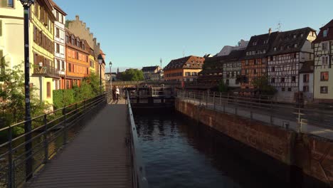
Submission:
POLYGON ((276 100, 295 102, 300 98, 299 71, 305 61, 313 59, 311 43, 315 38, 316 31, 309 27, 277 34, 267 54, 268 82, 277 90, 276 100))

